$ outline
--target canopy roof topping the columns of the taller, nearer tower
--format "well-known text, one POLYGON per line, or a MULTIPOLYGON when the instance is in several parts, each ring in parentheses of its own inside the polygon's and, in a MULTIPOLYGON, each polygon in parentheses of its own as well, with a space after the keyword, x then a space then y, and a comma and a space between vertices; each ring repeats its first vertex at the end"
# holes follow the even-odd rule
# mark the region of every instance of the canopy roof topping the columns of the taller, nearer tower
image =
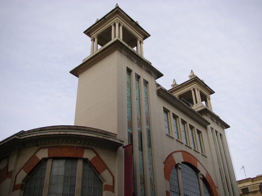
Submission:
POLYGON ((146 32, 138 22, 135 22, 121 8, 119 8, 118 5, 101 19, 96 20, 96 22, 86 29, 84 33, 90 38, 98 36, 98 44, 103 46, 112 40, 111 25, 116 21, 118 21, 123 28, 122 40, 132 48, 136 46, 137 39, 145 40, 150 36, 150 34, 146 32))

